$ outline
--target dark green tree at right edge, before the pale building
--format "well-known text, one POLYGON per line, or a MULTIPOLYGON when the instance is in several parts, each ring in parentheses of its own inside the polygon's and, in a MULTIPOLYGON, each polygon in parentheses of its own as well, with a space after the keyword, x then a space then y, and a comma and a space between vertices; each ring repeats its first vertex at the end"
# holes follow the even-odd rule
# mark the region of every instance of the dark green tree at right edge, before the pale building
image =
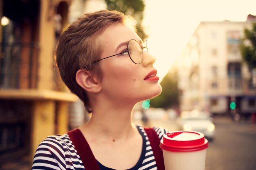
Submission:
POLYGON ((241 55, 250 68, 256 68, 256 23, 252 25, 252 30, 245 28, 244 34, 240 44, 241 55))

